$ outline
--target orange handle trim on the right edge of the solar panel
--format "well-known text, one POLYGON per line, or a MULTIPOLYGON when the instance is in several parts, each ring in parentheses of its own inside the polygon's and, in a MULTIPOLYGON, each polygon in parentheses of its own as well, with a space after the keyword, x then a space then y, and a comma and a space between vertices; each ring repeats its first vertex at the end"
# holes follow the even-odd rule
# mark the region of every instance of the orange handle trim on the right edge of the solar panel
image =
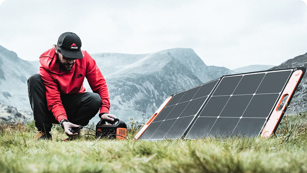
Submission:
POLYGON ((280 97, 280 100, 278 101, 278 104, 276 105, 275 109, 273 110, 268 122, 266 123, 266 126, 263 128, 263 131, 261 133, 261 137, 266 138, 273 134, 273 131, 275 127, 278 124, 279 119, 281 118, 281 115, 283 111, 286 109, 287 103, 289 102, 289 99, 291 95, 294 92, 295 87, 297 86, 298 81, 300 80, 301 76, 303 74, 302 70, 296 70, 291 75, 289 82, 286 85, 285 90, 282 92, 282 97, 280 97), (278 111, 278 107, 282 103, 282 99, 289 95, 285 105, 282 107, 282 110, 278 111))

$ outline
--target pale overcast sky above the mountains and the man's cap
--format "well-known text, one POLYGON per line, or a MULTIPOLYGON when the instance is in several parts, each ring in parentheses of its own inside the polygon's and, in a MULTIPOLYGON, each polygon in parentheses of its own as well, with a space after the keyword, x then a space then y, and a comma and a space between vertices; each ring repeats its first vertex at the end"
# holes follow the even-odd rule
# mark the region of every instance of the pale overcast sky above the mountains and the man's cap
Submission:
POLYGON ((64 32, 90 54, 192 48, 206 65, 279 65, 307 52, 307 3, 270 1, 0 2, 0 45, 38 60, 64 32))

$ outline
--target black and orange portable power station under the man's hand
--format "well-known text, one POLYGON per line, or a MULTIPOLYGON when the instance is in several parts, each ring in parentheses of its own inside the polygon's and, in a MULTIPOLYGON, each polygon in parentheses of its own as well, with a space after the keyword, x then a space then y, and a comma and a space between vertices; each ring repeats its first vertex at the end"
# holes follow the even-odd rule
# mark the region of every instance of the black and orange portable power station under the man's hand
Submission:
POLYGON ((113 139, 125 140, 127 137, 126 123, 119 118, 115 118, 114 121, 115 124, 106 124, 104 120, 100 120, 96 125, 96 137, 101 135, 101 137, 109 136, 113 139))

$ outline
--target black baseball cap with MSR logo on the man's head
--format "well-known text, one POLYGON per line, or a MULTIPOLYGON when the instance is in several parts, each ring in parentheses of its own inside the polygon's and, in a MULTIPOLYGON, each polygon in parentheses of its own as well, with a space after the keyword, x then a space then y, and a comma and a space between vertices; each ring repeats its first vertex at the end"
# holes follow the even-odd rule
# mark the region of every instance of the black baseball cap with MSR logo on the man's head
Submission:
POLYGON ((66 58, 82 59, 81 40, 77 34, 65 32, 60 35, 57 46, 61 49, 61 53, 66 58))

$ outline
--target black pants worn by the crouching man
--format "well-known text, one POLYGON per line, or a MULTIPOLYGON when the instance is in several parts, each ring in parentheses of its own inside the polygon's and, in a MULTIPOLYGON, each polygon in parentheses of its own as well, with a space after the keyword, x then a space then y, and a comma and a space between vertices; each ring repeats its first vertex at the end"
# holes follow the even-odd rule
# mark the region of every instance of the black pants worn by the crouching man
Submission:
MULTIPOLYGON (((38 131, 50 134, 52 123, 59 124, 59 122, 48 110, 46 88, 40 74, 32 74, 28 79, 28 94, 35 126, 38 131)), ((99 94, 91 92, 61 95, 60 97, 68 121, 81 126, 88 124, 102 104, 99 94)))

